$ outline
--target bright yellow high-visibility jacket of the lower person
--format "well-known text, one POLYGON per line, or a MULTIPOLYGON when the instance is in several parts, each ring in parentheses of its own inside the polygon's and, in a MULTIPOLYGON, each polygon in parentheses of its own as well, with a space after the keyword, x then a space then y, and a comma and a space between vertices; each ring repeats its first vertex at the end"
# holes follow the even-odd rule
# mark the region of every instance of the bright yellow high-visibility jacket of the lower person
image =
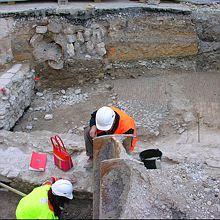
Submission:
POLYGON ((17 219, 59 219, 48 205, 48 191, 51 185, 35 188, 22 198, 16 209, 17 219))

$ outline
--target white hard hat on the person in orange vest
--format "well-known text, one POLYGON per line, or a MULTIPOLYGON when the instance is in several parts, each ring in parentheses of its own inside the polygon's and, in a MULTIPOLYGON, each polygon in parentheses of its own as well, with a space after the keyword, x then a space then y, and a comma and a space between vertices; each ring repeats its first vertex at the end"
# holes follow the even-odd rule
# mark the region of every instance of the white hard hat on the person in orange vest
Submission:
POLYGON ((107 106, 103 106, 96 113, 96 127, 100 131, 111 129, 115 120, 115 112, 107 106))

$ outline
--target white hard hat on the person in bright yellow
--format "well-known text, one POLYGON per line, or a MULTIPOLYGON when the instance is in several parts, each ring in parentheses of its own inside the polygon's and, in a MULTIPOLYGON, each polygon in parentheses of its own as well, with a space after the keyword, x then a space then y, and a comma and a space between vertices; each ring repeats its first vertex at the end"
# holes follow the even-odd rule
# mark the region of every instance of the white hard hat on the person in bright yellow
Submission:
POLYGON ((52 193, 57 196, 63 196, 68 199, 73 198, 73 185, 69 180, 57 180, 51 186, 52 193))

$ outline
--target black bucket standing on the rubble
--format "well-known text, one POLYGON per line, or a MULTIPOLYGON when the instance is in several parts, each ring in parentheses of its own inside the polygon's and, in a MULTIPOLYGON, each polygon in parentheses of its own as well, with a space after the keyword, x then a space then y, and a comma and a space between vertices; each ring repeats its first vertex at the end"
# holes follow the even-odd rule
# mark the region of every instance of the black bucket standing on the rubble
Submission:
POLYGON ((162 152, 159 149, 144 150, 139 154, 141 161, 147 169, 157 169, 158 161, 160 162, 162 152))

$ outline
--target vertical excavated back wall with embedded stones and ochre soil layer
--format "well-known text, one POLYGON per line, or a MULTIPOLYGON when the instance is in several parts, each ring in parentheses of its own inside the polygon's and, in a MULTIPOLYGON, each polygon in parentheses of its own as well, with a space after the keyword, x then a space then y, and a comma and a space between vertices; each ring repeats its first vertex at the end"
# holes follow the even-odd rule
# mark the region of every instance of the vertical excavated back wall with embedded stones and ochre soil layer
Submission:
POLYGON ((195 70, 206 62, 219 68, 217 10, 48 9, 0 17, 0 67, 29 60, 45 86, 158 68, 195 70))

